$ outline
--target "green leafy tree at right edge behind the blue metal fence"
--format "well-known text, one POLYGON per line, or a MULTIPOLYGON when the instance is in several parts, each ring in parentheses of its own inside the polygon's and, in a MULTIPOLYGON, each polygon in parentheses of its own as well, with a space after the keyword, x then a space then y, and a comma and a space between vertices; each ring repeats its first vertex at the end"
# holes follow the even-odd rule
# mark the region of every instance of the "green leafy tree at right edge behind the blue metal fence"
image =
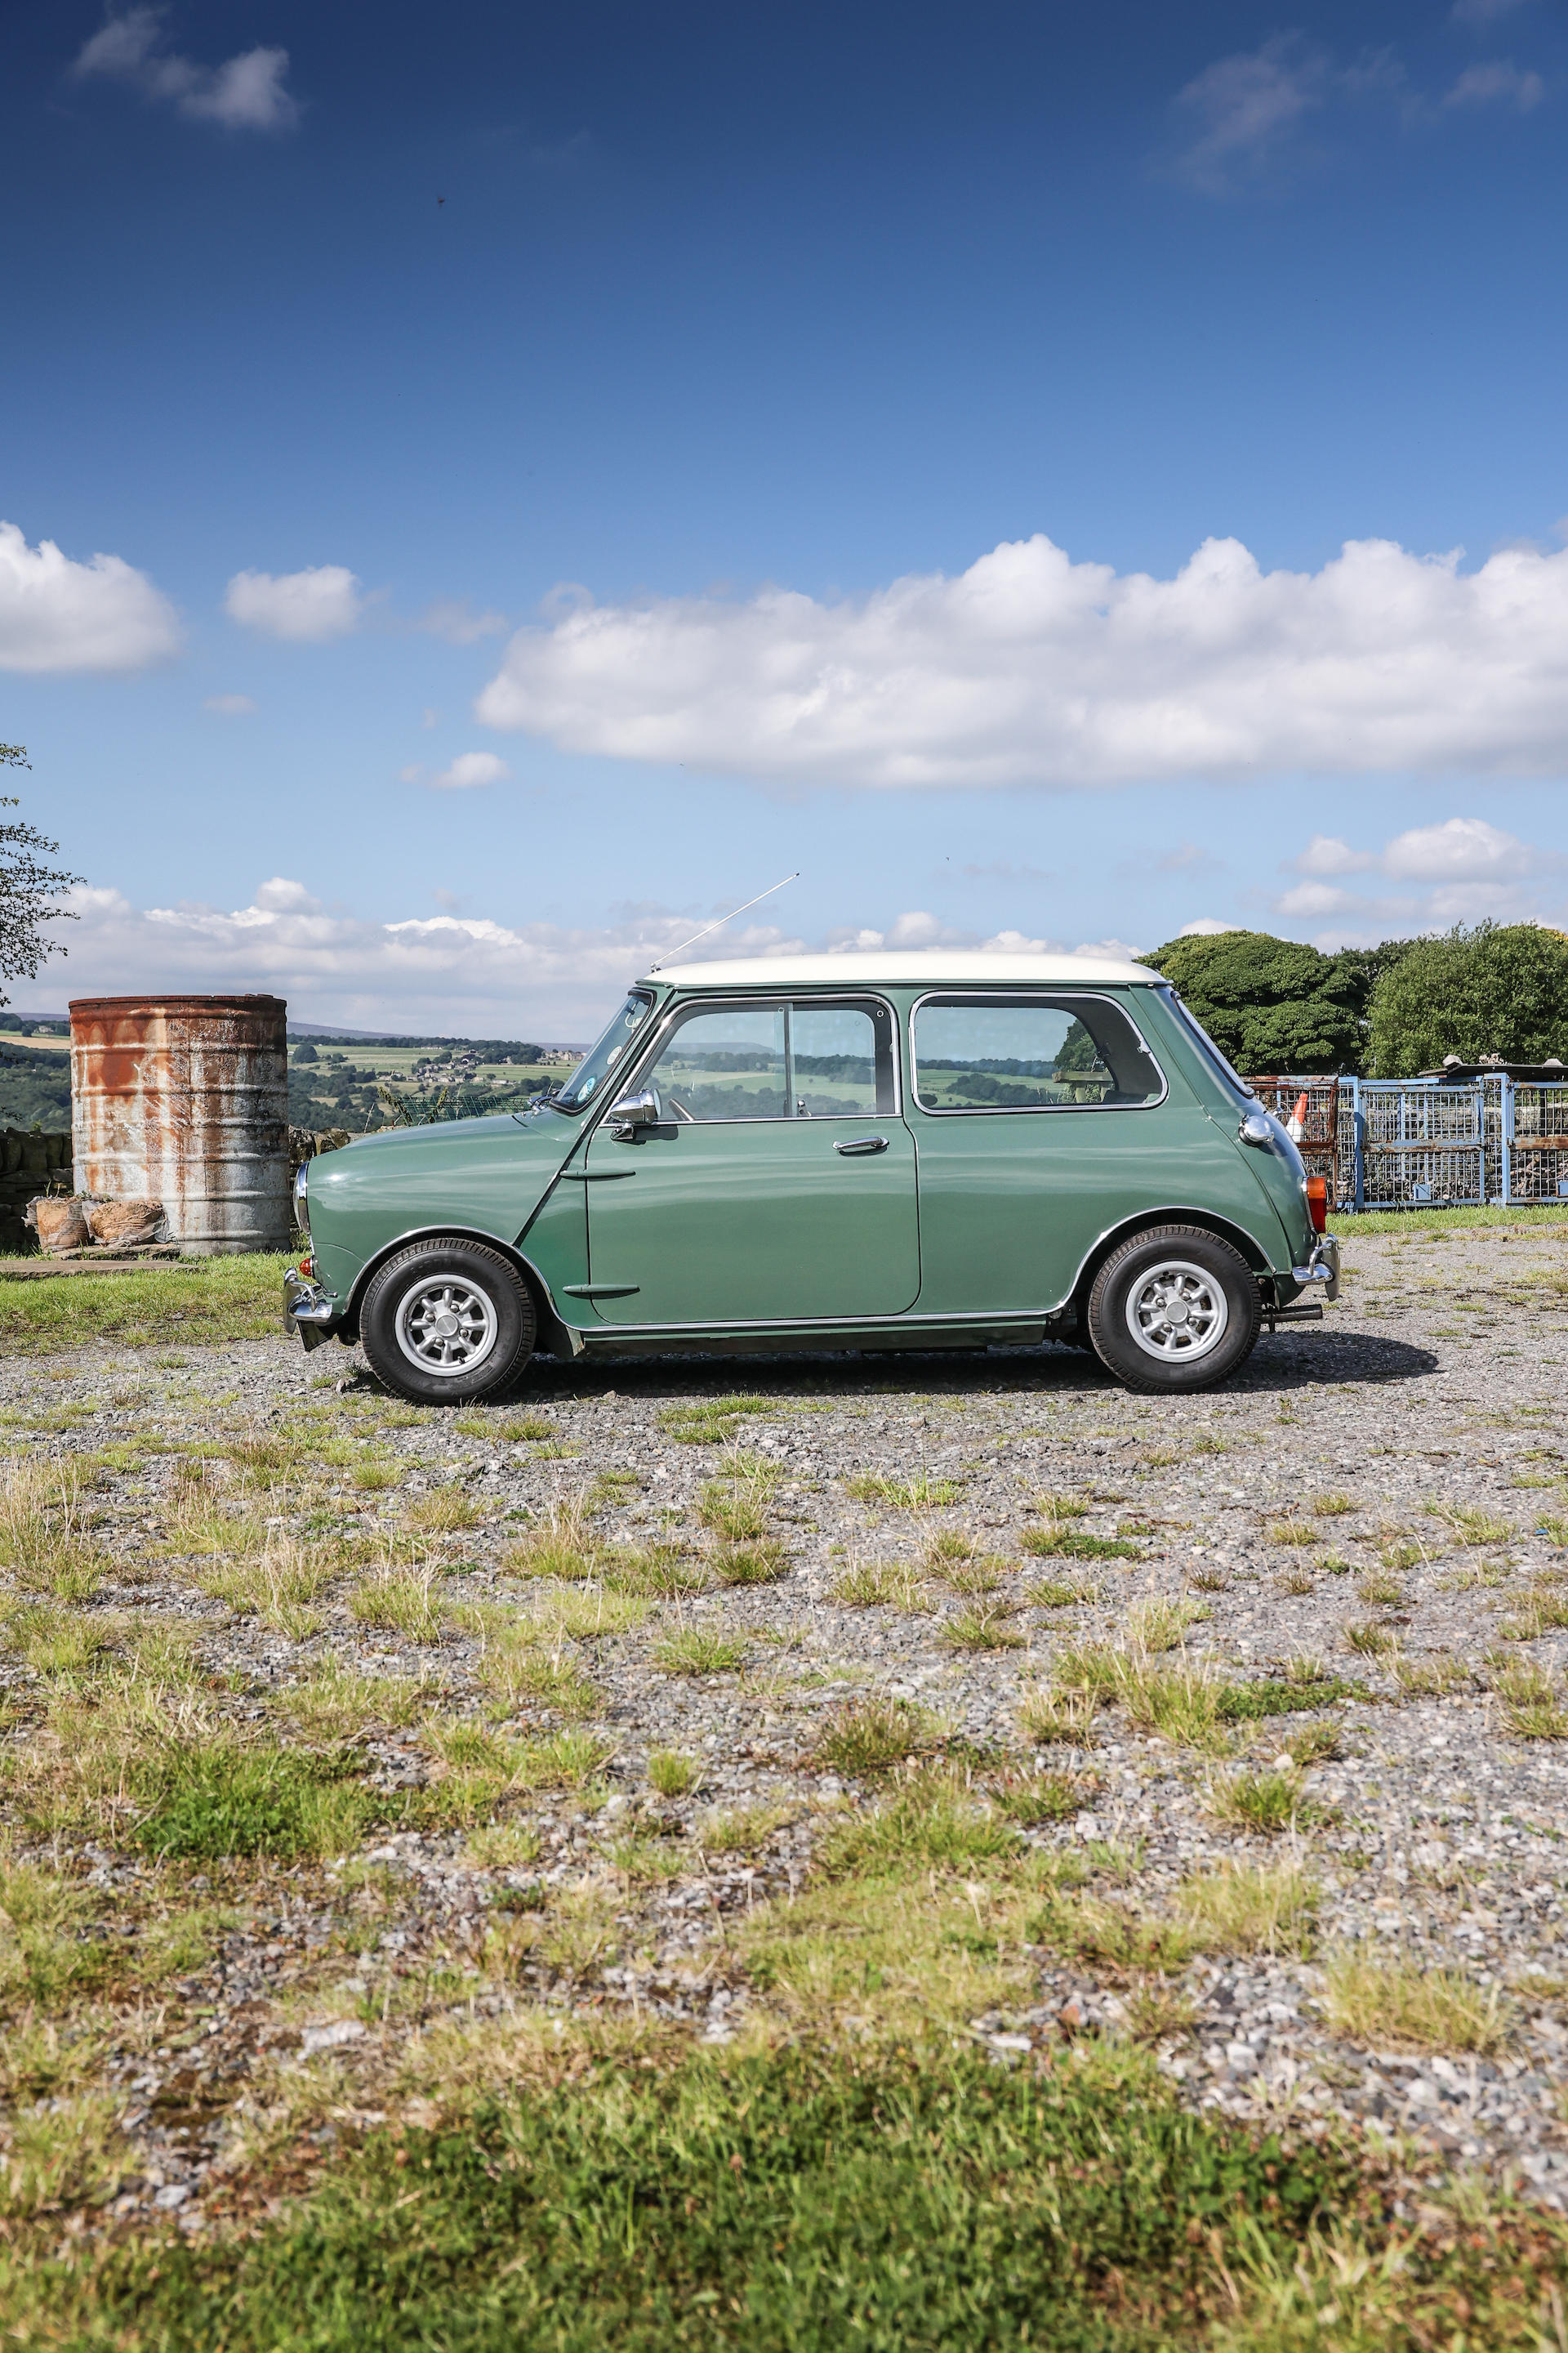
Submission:
POLYGON ((1568 1061, 1568 936, 1537 922, 1455 925, 1413 939, 1373 988, 1378 1078, 1434 1071, 1446 1054, 1568 1061))

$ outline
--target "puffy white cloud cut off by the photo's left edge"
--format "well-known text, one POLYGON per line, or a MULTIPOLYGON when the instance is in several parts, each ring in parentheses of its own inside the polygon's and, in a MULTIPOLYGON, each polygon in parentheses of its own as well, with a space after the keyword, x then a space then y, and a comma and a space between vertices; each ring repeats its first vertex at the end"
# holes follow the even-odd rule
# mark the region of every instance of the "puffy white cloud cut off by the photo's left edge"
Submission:
POLYGON ((0 522, 0 671, 143 671, 179 652, 179 621, 120 555, 73 562, 0 522))

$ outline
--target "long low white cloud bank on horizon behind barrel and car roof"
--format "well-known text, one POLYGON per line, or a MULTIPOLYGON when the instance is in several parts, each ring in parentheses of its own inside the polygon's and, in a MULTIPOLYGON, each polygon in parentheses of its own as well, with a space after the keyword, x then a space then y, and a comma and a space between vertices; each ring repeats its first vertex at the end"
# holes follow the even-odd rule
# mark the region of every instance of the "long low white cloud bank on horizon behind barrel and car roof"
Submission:
MULTIPOLYGON (((435 892, 437 904, 456 906, 435 892)), ((122 995, 160 988, 266 988, 287 998, 303 1021, 350 1028, 407 1028, 480 1038, 590 1038, 616 998, 689 939, 701 918, 630 908, 607 925, 503 925, 487 915, 404 915, 367 922, 324 906, 287 875, 263 882, 242 908, 183 901, 136 908, 118 889, 75 889, 71 995, 122 995)), ((788 955, 809 946, 954 946, 1020 953, 1063 941, 997 932, 990 939, 947 932, 912 911, 886 929, 849 939, 804 941, 776 925, 741 922, 701 941, 686 960, 788 955)), ((1131 955, 1124 941, 1086 941, 1086 955, 1131 955)))

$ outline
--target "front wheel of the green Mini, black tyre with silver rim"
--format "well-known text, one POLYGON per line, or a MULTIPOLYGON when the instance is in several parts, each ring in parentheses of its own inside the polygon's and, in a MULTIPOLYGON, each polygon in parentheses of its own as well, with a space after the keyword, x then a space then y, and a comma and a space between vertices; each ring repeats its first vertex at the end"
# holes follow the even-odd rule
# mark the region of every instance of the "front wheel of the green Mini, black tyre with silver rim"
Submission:
POLYGON ((360 1339, 371 1372, 400 1398, 465 1405, 527 1365, 534 1301, 512 1261, 484 1242, 411 1242, 371 1275, 360 1339))

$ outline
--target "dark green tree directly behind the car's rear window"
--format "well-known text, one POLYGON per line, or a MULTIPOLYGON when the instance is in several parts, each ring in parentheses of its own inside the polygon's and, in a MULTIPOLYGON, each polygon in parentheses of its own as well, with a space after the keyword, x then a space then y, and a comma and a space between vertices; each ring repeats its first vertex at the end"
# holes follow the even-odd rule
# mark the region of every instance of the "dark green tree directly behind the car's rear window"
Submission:
POLYGON ((1140 962, 1180 991, 1248 1078, 1361 1066, 1366 981, 1347 958, 1272 932, 1213 932, 1171 939, 1140 962))

